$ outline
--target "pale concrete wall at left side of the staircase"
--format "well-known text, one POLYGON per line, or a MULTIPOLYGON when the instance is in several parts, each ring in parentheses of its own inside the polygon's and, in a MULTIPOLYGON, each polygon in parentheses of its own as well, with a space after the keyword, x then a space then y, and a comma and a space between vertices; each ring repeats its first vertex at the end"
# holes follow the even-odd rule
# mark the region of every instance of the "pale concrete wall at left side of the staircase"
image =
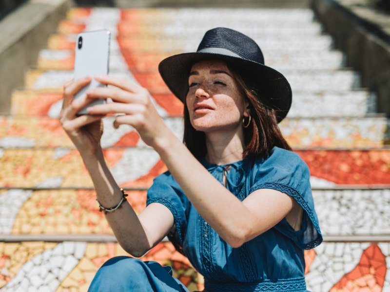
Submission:
POLYGON ((29 0, 0 21, 0 113, 9 112, 11 93, 23 85, 47 37, 71 7, 71 0, 29 0))

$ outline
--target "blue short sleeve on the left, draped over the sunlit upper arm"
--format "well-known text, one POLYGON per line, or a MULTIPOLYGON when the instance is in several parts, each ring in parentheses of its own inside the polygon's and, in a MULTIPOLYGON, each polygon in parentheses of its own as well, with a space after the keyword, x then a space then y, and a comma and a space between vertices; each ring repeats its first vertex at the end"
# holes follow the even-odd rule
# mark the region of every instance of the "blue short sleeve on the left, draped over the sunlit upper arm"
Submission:
POLYGON ((189 200, 169 171, 157 176, 148 189, 146 205, 151 203, 161 203, 171 211, 175 219, 176 232, 169 234, 168 237, 181 252, 187 226, 189 200))

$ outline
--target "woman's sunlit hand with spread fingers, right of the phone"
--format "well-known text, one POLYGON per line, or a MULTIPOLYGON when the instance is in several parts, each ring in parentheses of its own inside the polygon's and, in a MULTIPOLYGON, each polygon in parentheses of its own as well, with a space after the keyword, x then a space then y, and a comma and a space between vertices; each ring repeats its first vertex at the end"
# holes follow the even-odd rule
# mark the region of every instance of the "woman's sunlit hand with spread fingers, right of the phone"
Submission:
POLYGON ((134 127, 142 140, 149 146, 156 147, 158 141, 167 137, 170 132, 152 103, 150 93, 145 88, 124 79, 103 75, 95 77, 102 84, 117 88, 104 87, 87 91, 89 98, 111 98, 113 103, 89 107, 88 113, 106 115, 108 113, 124 113, 118 115, 114 127, 122 124, 134 127))

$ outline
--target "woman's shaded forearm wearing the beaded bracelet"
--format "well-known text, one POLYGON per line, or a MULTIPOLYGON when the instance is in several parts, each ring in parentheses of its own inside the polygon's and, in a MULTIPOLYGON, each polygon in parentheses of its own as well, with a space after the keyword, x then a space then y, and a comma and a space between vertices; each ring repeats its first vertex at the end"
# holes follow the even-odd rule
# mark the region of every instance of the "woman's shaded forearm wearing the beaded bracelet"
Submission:
MULTIPOLYGON (((116 206, 122 192, 114 180, 101 151, 95 157, 82 155, 84 164, 94 183, 97 198, 106 208, 116 206)), ((114 231, 119 244, 133 256, 142 256, 151 248, 151 243, 137 214, 127 201, 120 208, 106 214, 106 219, 114 231)))

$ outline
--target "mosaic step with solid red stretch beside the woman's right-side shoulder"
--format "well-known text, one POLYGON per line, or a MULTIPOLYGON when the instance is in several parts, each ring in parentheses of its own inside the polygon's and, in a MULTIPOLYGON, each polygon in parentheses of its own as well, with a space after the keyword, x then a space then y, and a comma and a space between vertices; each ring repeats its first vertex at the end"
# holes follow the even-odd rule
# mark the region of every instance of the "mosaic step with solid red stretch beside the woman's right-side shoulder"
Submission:
MULTIPOLYGON (((312 187, 390 186, 390 149, 296 150, 309 165, 312 187)), ((111 148, 105 158, 124 188, 149 187, 166 166, 151 148, 111 148)), ((76 149, 0 149, 0 188, 91 188, 76 149)))

